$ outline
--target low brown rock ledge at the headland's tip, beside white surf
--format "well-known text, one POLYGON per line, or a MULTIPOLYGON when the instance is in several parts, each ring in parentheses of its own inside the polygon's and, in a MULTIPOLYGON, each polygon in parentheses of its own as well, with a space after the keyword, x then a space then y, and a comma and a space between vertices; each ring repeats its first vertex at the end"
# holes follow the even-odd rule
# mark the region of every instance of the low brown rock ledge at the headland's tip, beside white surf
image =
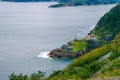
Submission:
POLYGON ((77 58, 81 55, 83 55, 84 52, 81 51, 79 53, 73 53, 71 51, 68 50, 63 50, 61 48, 57 48, 57 49, 53 49, 48 56, 51 58, 77 58))

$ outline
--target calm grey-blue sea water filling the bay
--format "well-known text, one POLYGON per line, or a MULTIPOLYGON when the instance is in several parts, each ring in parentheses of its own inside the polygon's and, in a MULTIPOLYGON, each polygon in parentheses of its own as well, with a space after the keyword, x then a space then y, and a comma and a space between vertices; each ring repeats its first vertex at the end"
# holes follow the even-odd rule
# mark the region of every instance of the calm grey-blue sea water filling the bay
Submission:
POLYGON ((47 53, 76 37, 84 37, 115 5, 48 8, 53 2, 0 2, 0 80, 11 73, 49 75, 71 60, 47 53))

